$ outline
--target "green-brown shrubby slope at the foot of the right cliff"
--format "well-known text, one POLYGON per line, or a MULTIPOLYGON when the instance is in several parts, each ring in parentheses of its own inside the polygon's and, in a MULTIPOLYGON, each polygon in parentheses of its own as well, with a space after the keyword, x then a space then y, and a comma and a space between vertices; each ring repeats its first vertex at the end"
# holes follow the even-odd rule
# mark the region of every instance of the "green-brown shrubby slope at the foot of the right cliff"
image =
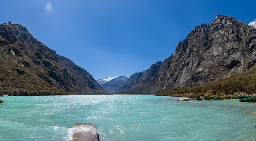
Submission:
POLYGON ((190 97, 193 97, 205 94, 221 96, 235 93, 256 94, 256 68, 252 68, 246 73, 235 74, 229 78, 203 86, 195 86, 192 88, 173 88, 158 92, 156 95, 179 96, 187 94, 190 95, 190 97))

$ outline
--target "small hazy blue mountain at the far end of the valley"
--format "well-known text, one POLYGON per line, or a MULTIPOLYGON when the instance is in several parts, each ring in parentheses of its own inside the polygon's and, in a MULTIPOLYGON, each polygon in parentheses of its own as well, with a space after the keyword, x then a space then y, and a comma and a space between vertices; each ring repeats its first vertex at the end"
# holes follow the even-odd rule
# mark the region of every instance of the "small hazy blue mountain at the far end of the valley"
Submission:
POLYGON ((123 84, 128 79, 129 78, 125 76, 118 76, 117 78, 111 79, 110 81, 103 84, 102 88, 107 93, 118 93, 120 92, 120 89, 122 88, 123 84))

